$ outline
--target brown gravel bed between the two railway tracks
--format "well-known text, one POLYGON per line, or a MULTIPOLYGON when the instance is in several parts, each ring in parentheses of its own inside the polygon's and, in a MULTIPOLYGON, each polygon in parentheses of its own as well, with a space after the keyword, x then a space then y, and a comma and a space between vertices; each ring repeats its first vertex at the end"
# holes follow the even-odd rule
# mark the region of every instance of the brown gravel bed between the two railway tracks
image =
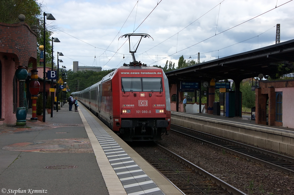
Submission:
POLYGON ((163 135, 159 144, 250 195, 293 195, 294 177, 183 138, 163 135))

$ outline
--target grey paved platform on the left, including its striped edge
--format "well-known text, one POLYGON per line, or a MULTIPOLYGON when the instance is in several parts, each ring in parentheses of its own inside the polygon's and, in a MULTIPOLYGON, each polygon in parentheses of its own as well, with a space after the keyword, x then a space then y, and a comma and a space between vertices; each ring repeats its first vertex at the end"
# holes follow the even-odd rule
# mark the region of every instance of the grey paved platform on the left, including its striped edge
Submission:
POLYGON ((13 194, 183 194, 83 105, 0 126, 0 189, 13 194))

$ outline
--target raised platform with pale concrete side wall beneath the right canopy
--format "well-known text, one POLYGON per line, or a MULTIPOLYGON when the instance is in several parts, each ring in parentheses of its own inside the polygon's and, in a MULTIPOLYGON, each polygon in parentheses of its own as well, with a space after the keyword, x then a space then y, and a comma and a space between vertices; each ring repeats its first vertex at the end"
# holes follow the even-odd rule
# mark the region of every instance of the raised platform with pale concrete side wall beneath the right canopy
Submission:
POLYGON ((294 129, 255 124, 250 116, 171 112, 171 123, 294 156, 294 129))

